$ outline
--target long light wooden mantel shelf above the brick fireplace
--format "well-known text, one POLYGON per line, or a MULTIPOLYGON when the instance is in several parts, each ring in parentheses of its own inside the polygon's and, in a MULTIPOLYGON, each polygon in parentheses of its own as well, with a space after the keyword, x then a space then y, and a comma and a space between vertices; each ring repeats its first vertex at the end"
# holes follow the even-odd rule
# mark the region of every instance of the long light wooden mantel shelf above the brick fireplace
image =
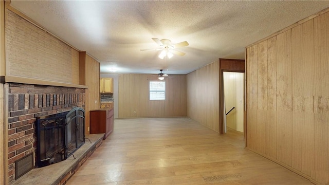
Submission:
POLYGON ((47 80, 33 79, 26 77, 16 77, 16 76, 2 76, 1 83, 22 83, 22 84, 32 84, 32 85, 48 85, 48 86, 73 87, 73 88, 85 88, 85 89, 88 88, 88 86, 85 85, 54 82, 54 81, 47 81, 47 80))

